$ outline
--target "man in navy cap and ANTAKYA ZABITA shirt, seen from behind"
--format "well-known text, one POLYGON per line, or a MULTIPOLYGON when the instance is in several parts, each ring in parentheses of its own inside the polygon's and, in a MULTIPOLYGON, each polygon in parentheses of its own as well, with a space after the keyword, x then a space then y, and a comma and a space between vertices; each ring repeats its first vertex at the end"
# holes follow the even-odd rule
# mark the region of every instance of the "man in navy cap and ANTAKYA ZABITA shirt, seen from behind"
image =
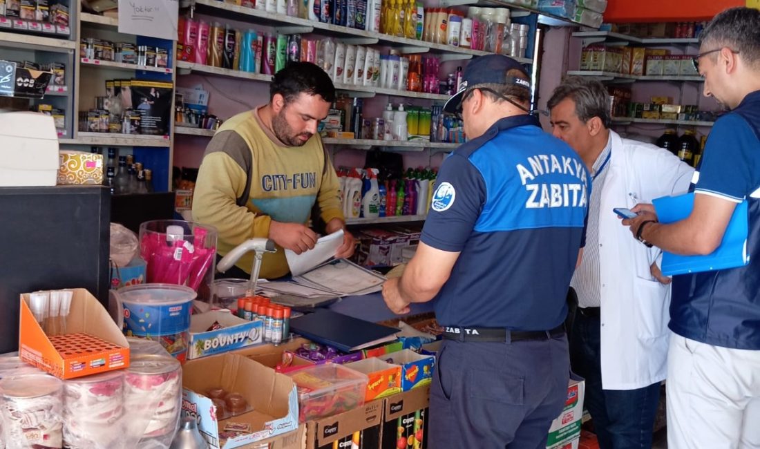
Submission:
POLYGON ((466 144, 439 171, 416 255, 385 303, 435 302, 445 327, 429 447, 546 446, 567 397, 565 298, 584 241, 591 177, 528 114, 530 82, 504 55, 475 58, 444 107, 466 144))

